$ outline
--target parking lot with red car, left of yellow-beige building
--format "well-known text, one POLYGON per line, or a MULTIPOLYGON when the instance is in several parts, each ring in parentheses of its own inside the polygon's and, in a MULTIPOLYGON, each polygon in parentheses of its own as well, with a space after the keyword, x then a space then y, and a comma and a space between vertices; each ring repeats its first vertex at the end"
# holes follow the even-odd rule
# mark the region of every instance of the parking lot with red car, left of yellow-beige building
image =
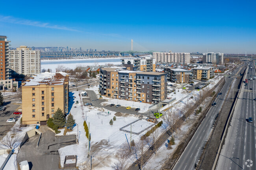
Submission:
POLYGON ((19 118, 20 115, 13 115, 13 112, 20 106, 20 104, 7 104, 5 105, 7 108, 5 111, 3 111, 0 114, 0 140, 6 135, 6 133, 13 127, 15 122, 9 122, 7 123, 6 121, 10 119, 11 117, 13 118, 19 118))

